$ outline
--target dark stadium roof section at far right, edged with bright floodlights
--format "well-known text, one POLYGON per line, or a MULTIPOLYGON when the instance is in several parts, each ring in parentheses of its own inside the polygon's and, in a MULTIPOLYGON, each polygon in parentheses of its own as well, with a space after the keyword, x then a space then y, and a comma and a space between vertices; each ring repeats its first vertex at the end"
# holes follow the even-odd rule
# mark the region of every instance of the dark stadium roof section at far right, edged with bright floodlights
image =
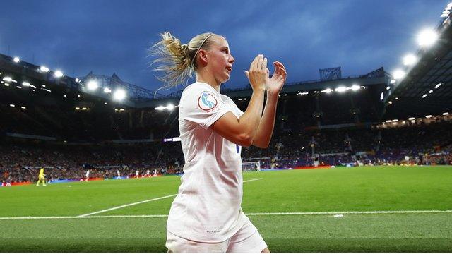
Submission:
POLYGON ((384 98, 387 119, 424 117, 452 111, 452 27, 450 16, 436 29, 439 40, 417 52, 419 61, 384 98))

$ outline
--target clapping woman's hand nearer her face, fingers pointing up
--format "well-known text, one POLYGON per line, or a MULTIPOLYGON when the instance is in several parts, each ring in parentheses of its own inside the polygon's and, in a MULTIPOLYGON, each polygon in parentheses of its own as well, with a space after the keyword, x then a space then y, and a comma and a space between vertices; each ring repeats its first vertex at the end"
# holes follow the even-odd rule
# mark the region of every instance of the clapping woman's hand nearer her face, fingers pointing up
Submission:
POLYGON ((266 90, 266 83, 268 81, 269 72, 267 68, 267 59, 263 54, 258 54, 249 66, 249 71, 245 71, 246 78, 253 90, 266 90))

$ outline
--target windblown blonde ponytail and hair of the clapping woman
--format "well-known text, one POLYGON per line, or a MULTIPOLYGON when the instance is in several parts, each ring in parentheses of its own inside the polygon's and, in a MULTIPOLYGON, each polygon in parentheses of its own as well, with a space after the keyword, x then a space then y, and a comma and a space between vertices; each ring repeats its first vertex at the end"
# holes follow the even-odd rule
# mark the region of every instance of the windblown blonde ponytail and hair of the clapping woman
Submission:
POLYGON ((188 44, 181 44, 180 40, 169 32, 160 34, 162 38, 160 42, 150 48, 150 55, 157 56, 151 66, 157 64, 153 70, 162 73, 157 76, 157 79, 166 84, 160 89, 176 87, 193 78, 194 71, 198 67, 196 56, 200 49, 208 49, 214 42, 212 35, 215 34, 202 33, 191 38, 188 44))

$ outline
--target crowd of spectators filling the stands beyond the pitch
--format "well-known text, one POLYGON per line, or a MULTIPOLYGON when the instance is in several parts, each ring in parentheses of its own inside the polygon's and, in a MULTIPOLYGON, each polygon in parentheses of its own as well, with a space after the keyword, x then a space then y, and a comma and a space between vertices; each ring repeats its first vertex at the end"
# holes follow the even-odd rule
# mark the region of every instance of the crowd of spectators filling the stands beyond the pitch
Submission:
MULTIPOLYGON (((244 161, 261 162, 262 169, 309 167, 319 154, 320 165, 452 164, 451 122, 403 128, 335 129, 283 132, 276 130, 267 149, 243 147, 244 161), (357 152, 359 152, 357 154, 357 152), (405 157, 409 157, 406 161, 405 157)), ((48 180, 90 177, 133 177, 138 170, 158 174, 182 173, 180 143, 0 145, 0 181, 37 181, 40 167, 48 180)))

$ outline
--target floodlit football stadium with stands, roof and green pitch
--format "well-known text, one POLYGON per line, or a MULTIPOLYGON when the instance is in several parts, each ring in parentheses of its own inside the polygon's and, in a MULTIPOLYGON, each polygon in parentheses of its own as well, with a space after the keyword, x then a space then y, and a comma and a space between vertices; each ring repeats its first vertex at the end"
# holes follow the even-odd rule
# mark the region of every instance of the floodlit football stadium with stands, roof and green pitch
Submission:
MULTIPOLYGON (((242 208, 272 252, 452 252, 444 7, 399 70, 321 68, 283 87, 269 147, 242 147, 242 208)), ((71 77, 8 54, 0 80, 0 251, 166 252, 184 89, 71 77)), ((245 111, 252 90, 221 93, 245 111)))

